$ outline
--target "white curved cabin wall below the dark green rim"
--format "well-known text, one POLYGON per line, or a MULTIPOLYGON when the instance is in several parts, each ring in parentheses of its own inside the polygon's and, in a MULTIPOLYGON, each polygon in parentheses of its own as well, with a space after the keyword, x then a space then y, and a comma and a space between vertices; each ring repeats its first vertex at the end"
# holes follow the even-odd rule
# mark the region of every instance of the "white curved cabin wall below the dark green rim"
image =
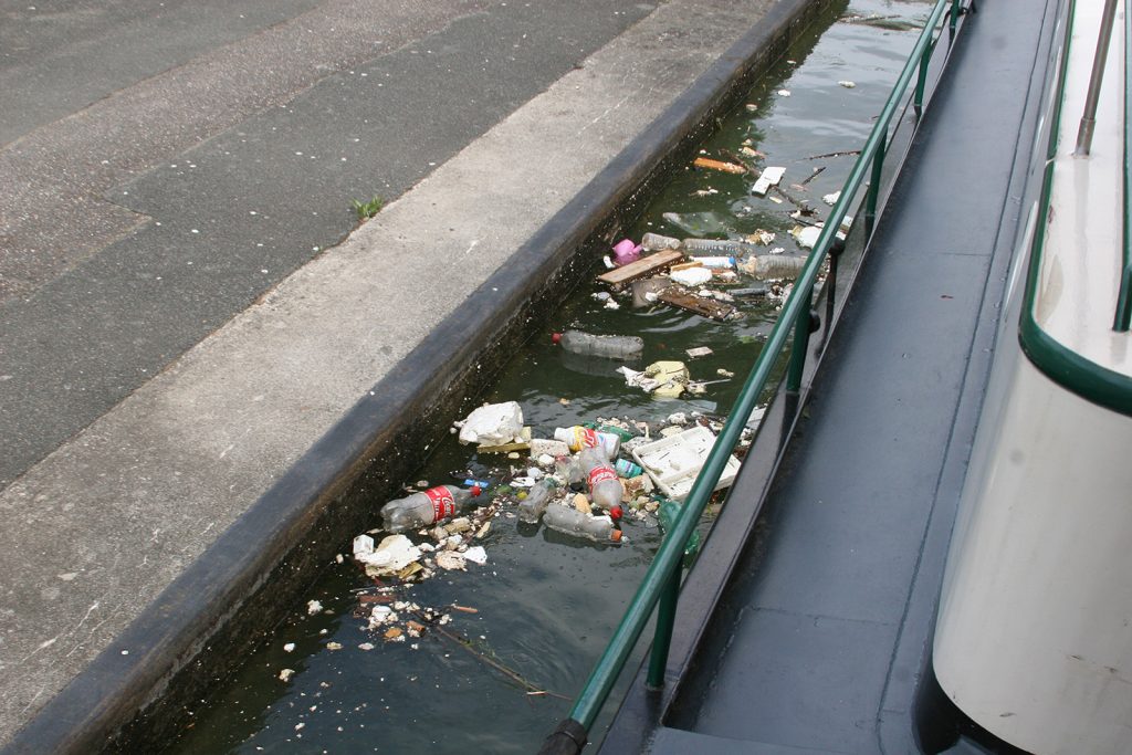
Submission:
POLYGON ((1032 753, 1132 752, 1132 422, 995 364, 952 539, 934 664, 1032 753), (1001 368, 1001 369, 1000 369, 1001 368))

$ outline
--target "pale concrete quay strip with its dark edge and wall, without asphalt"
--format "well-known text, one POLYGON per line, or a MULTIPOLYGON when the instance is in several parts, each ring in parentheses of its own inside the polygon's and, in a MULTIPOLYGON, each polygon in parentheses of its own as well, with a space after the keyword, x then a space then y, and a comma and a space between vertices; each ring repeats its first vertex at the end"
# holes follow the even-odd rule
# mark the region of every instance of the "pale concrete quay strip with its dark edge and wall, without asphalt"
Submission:
POLYGON ((24 471, 0 494, 0 743, 168 735, 822 5, 634 7, 576 69, 24 471))

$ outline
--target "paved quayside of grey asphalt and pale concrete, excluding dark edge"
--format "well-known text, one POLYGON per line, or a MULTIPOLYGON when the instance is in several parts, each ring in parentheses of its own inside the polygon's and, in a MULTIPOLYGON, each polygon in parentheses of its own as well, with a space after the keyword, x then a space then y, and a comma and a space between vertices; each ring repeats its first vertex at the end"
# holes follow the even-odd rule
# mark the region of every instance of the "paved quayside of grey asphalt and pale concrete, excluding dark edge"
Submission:
POLYGON ((774 5, 0 0, 0 746, 774 5))

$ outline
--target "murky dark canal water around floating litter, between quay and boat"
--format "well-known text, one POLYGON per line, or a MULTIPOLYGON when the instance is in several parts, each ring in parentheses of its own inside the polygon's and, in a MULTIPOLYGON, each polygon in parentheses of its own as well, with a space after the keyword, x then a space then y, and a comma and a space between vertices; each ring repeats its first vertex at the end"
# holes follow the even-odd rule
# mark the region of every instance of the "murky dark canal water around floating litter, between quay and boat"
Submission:
MULTIPOLYGON (((749 92, 744 106, 702 145, 703 156, 784 166, 784 192, 808 200, 824 215, 829 207, 821 197, 841 188, 855 156, 815 156, 864 144, 928 11, 928 0, 855 0, 840 15, 831 15, 749 92), (860 23, 854 17, 880 18, 860 23), (752 156, 745 147, 765 157, 752 156)), ((789 235, 797 224, 790 217, 796 209, 790 199, 773 192, 770 196, 781 204, 756 197, 752 182, 748 175, 710 170, 678 172, 633 230, 633 238, 638 240, 648 231, 726 238, 764 230, 775 234, 767 250, 781 247, 787 255, 804 254, 789 235), (677 216, 666 218, 666 213, 677 216)), ((738 283, 753 284, 749 278, 738 283)), ((727 323, 659 304, 634 309, 625 299, 618 299, 621 307, 612 310, 592 295, 603 290, 597 283, 582 285, 548 318, 544 335, 501 367, 484 400, 517 401, 537 437, 598 418, 655 426, 675 412, 724 415, 777 314, 777 302, 752 299, 737 300, 741 317, 727 323), (685 361, 693 379, 723 381, 707 385, 703 395, 653 398, 627 387, 616 374, 589 375, 565 363, 550 334, 568 327, 640 335, 645 342, 644 363, 685 361), (688 359, 685 351, 696 346, 707 346, 712 353, 688 359), (718 370, 736 377, 724 380, 718 370)), ((453 472, 488 474, 507 461, 478 458, 471 447, 452 438, 405 483, 458 482, 453 472)), ((526 466, 525 458, 511 463, 520 473, 526 466)), ((374 527, 380 526, 383 503, 372 501, 374 527)), ((537 750, 568 712, 569 698, 619 621, 661 533, 653 517, 627 515, 621 522, 626 542, 598 546, 546 527, 517 527, 514 511, 514 505, 505 506, 477 541, 487 551, 486 565, 440 572, 402 593, 403 600, 451 617, 444 634, 426 630, 404 642, 386 642, 381 630, 367 629, 370 604, 360 601, 372 594, 374 582, 354 566, 351 544, 343 542, 342 563, 332 564, 307 597, 319 601, 321 610, 310 615, 306 601, 294 606, 291 618, 240 671, 192 711, 191 723, 171 750, 537 750), (285 681, 280 678, 284 669, 293 671, 285 681), (532 695, 531 689, 547 694, 532 695)), ((703 527, 710 527, 710 514, 703 527)), ((410 534, 415 541, 426 540, 410 534)), ((629 668, 643 652, 637 650, 629 668)), ((611 700, 627 681, 621 679, 611 700)), ((595 738, 601 726, 599 721, 595 738)))

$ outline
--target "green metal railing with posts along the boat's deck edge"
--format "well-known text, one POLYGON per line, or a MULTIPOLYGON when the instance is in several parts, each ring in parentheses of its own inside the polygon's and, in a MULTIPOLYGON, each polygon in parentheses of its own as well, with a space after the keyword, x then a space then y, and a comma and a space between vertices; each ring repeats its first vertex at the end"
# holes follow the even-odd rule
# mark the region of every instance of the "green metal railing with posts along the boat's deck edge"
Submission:
POLYGON ((838 231, 865 183, 866 175, 869 177, 865 198, 866 233, 872 233, 880 198, 884 157, 890 147, 889 128, 893 117, 899 111, 914 76, 917 77, 914 105, 919 114, 924 102, 927 67, 937 41, 935 34, 937 31, 942 34, 941 20, 945 16, 950 16, 949 29, 953 36, 955 23, 962 12, 960 0, 938 0, 932 10, 908 62, 897 79, 892 94, 889 95, 868 140, 861 148, 860 155, 844 182, 841 197, 826 218, 822 232, 814 243, 814 249, 807 257, 806 265, 795 283, 794 291, 783 304, 781 315, 771 329, 770 336, 739 393, 736 405, 715 439, 715 444, 692 486, 676 522, 664 537, 620 624, 590 672, 585 686, 575 698, 569 718, 563 721, 555 733, 547 739, 543 753, 581 750, 585 744, 586 733, 604 705, 606 698, 652 616, 653 609, 658 606, 657 627, 649 660, 648 686, 653 689, 663 686, 664 669, 668 663, 668 651, 679 600, 680 564, 685 543, 695 532, 707 500, 723 473, 728 457, 739 441, 747 418, 751 417, 758 397, 770 383, 774 366, 790 337, 791 328, 794 329, 794 344, 787 371, 787 389, 797 392, 800 388, 809 334, 816 318, 811 309, 814 286, 822 264, 830 255, 831 248, 832 260, 835 261, 837 252, 841 246, 837 242, 838 231), (947 12, 949 8, 950 12, 947 12))

